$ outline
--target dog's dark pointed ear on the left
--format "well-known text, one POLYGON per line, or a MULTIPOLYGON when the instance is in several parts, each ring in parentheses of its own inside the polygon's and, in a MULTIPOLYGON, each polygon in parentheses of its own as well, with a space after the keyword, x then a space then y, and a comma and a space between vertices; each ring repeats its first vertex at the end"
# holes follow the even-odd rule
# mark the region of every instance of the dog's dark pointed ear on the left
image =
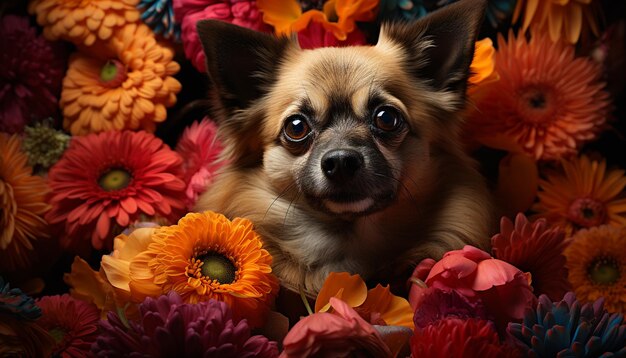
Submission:
POLYGON ((201 20, 196 29, 206 56, 214 94, 225 115, 247 108, 274 80, 290 40, 217 20, 201 20))

